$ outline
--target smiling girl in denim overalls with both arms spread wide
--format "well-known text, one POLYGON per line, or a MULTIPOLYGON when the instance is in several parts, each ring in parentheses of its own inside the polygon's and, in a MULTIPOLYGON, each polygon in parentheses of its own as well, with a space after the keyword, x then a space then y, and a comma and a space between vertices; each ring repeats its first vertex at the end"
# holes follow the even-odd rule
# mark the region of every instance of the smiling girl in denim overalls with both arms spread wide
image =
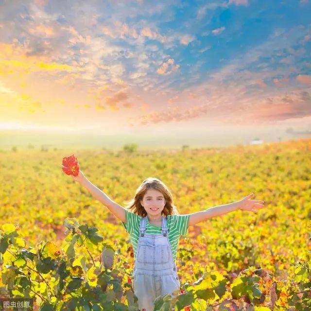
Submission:
POLYGON ((88 181, 81 171, 72 178, 120 219, 130 234, 135 262, 132 286, 139 310, 153 311, 157 296, 179 290, 175 264, 178 241, 187 234, 190 225, 237 209, 257 213, 256 208, 264 207, 263 201, 250 200, 253 196, 250 194, 241 201, 178 215, 170 190, 159 179, 149 177, 138 187, 130 205, 123 208, 88 181))

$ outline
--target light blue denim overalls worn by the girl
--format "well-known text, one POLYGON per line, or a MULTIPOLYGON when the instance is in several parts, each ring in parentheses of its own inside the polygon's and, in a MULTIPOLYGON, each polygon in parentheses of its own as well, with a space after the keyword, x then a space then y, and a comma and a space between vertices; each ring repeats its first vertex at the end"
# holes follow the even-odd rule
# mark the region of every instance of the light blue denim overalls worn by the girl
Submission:
POLYGON ((162 234, 146 234, 146 222, 147 216, 140 221, 132 286, 138 297, 138 309, 153 311, 155 298, 179 290, 180 281, 173 261, 166 217, 162 216, 162 234))

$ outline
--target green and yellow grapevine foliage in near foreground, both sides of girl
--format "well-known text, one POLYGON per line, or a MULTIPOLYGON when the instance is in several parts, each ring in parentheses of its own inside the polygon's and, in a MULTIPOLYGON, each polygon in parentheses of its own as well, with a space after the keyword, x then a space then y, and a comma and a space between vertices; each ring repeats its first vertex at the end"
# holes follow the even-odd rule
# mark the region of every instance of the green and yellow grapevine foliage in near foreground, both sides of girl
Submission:
MULTIPOLYGON (((113 269, 115 251, 98 229, 75 218, 67 218, 65 226, 62 247, 47 241, 26 248, 19 227, 2 225, 1 296, 34 298, 41 311, 138 311, 131 279, 124 280, 125 270, 113 269)), ((155 311, 310 310, 310 254, 307 257, 296 264, 294 279, 286 281, 252 267, 238 276, 207 271, 180 292, 157 297, 155 311)))

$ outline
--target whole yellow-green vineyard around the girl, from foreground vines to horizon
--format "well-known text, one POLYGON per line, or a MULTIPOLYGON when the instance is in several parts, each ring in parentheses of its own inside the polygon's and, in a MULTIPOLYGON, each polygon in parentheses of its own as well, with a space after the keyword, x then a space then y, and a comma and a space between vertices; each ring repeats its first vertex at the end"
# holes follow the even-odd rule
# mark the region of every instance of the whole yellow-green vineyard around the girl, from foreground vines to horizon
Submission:
MULTIPOLYGON (((175 310, 311 310, 310 139, 171 151, 0 151, 0 297, 33 297, 34 310, 43 311, 137 310, 129 236, 62 172, 62 158, 73 153, 87 179, 121 206, 150 176, 172 191, 180 214, 250 193, 264 200, 258 214, 237 210, 189 227, 179 241, 175 310), (103 248, 113 250, 113 267, 103 248), (68 275, 59 272, 62 262, 68 275)), ((170 304, 159 300, 157 310, 170 304)))

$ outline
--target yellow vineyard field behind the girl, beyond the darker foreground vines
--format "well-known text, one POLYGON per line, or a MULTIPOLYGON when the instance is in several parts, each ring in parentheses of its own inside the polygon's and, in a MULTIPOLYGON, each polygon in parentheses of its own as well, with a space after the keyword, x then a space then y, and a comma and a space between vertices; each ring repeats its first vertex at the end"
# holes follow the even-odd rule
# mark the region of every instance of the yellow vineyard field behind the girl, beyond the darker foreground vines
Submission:
MULTIPOLYGON (((264 200, 265 208, 258 214, 238 210, 189 227, 188 236, 180 239, 176 259, 182 286, 205 272, 234 279, 245 269, 260 268, 285 282, 294 278, 296 264, 311 251, 311 140, 307 139, 133 153, 0 151, 0 227, 17 226, 26 241, 23 247, 51 241, 61 249, 66 238, 64 221, 76 218, 80 224, 98 228, 104 243, 115 250, 114 267, 125 269, 124 279, 131 275, 133 257, 121 222, 62 172, 62 158, 72 153, 85 176, 121 206, 149 176, 170 188, 180 214, 235 202, 252 192, 252 199, 264 200)), ((102 245, 88 246, 93 259, 100 259, 102 245)), ((1 255, 0 272, 1 261, 8 256, 12 255, 1 255)), ((269 279, 261 282, 261 292, 268 293, 271 285, 269 279)), ((0 294, 4 287, 0 278, 0 294)))

